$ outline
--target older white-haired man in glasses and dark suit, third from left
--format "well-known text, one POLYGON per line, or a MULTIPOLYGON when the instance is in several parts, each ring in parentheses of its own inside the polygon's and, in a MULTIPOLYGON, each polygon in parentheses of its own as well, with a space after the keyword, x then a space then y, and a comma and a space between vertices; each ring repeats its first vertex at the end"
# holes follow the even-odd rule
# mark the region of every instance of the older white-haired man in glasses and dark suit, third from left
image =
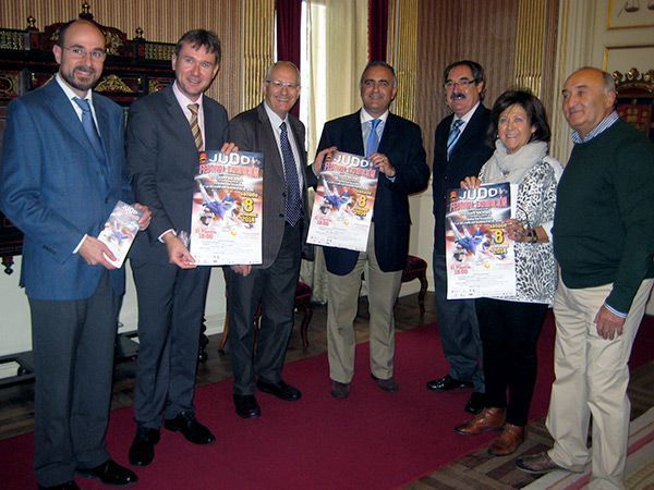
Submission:
POLYGON ((300 73, 289 61, 268 69, 264 101, 231 120, 230 136, 239 149, 264 154, 263 262, 226 267, 229 305, 229 351, 234 373, 233 397, 243 418, 261 415, 255 387, 284 401, 300 400, 300 390, 281 378, 293 328, 293 303, 306 245, 306 186, 316 177, 306 172, 304 125, 291 108, 300 97, 300 73), (254 316, 262 306, 254 352, 254 316))

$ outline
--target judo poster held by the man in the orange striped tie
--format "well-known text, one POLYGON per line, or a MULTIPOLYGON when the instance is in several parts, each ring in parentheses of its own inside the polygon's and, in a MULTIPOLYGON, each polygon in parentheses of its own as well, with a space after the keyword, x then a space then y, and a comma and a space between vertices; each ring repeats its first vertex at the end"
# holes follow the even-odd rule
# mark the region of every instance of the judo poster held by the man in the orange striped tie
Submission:
POLYGON ((262 264, 264 156, 201 154, 190 252, 198 266, 262 264))

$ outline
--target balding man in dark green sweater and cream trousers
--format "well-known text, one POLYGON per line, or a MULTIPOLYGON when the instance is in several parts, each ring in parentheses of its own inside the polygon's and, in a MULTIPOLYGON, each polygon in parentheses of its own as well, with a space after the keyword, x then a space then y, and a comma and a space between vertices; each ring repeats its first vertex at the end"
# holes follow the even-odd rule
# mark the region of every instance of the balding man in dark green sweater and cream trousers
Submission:
POLYGON ((574 148, 553 228, 561 271, 546 422, 554 448, 517 465, 541 474, 581 471, 592 462, 590 488, 618 489, 629 428, 627 363, 654 281, 654 145, 618 118, 608 73, 578 70, 562 96, 574 148))

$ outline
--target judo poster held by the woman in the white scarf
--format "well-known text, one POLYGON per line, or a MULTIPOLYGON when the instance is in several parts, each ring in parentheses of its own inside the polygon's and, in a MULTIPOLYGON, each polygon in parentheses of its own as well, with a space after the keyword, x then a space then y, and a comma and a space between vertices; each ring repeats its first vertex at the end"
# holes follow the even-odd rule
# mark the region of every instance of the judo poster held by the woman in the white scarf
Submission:
MULTIPOLYGON (((513 194, 512 194, 513 192, 513 194)), ((447 194, 445 253, 447 298, 506 297, 516 294, 513 241, 505 220, 514 216, 508 183, 453 188, 447 194)))

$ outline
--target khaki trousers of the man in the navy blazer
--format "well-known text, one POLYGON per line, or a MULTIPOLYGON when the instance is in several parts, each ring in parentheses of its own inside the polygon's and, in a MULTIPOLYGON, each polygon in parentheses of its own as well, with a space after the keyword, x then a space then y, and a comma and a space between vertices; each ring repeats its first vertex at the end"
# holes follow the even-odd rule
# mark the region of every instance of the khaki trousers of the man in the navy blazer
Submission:
POLYGON ((375 257, 375 232, 371 226, 367 252, 359 254, 354 269, 346 275, 327 272, 327 351, 329 377, 349 383, 354 376, 356 336, 354 318, 359 306, 361 274, 365 274, 370 305, 371 372, 392 377, 395 353, 393 306, 402 283, 402 271, 384 272, 375 257))

